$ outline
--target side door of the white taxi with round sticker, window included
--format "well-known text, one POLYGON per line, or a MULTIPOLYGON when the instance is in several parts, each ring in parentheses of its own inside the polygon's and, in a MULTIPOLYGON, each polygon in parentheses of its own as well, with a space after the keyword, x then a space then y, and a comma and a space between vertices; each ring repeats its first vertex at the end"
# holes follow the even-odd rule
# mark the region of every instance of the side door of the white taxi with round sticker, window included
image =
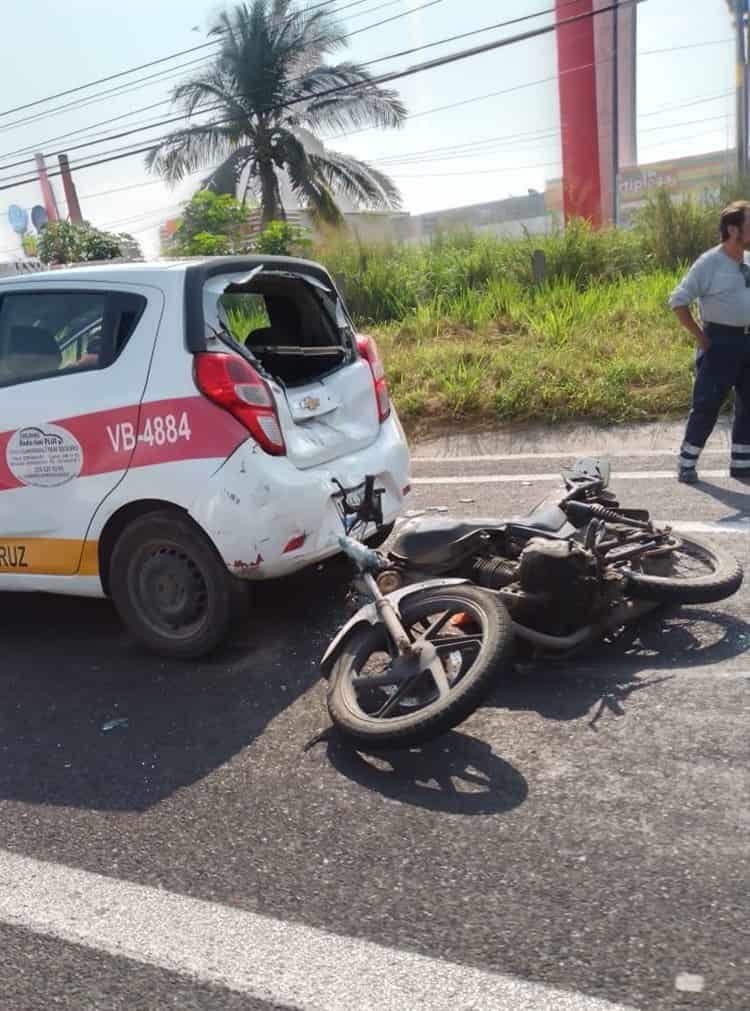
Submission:
POLYGON ((163 308, 146 285, 0 286, 0 585, 97 571, 86 531, 135 449, 163 308))

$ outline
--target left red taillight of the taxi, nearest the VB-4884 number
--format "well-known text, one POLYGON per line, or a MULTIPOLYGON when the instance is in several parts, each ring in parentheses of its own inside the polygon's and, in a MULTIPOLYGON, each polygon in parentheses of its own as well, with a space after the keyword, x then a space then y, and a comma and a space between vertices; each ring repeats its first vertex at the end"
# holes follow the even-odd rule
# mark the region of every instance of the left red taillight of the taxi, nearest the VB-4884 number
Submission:
POLYGON ((244 425, 261 449, 284 456, 286 446, 273 393, 249 362, 239 355, 196 355, 195 383, 204 396, 244 425))

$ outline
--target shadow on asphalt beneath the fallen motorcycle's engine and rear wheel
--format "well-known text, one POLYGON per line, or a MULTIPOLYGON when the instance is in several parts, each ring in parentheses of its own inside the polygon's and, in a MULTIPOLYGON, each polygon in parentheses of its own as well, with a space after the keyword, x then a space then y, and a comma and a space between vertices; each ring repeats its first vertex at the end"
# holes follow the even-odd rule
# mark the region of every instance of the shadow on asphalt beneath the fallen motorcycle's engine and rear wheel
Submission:
POLYGON ((590 714, 595 731, 607 713, 624 716, 634 693, 658 691, 679 670, 727 663, 749 649, 750 624, 741 618, 706 608, 665 610, 574 659, 525 664, 487 705, 548 720, 590 714))

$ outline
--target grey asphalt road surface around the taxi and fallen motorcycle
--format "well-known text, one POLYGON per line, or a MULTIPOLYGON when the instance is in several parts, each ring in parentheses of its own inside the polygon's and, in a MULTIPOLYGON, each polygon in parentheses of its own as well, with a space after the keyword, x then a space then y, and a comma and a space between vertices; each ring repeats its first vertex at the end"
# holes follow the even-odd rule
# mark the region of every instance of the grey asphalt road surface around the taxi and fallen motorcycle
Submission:
MULTIPOLYGON (((409 508, 517 515, 567 462, 416 460, 409 508)), ((747 564, 750 486, 671 468, 634 452, 613 486, 718 525, 747 564)), ((642 1011, 747 1011, 750 581, 525 667, 459 731, 378 758, 304 750, 346 584, 335 562, 264 586, 243 635, 187 665, 106 603, 5 595, 0 849, 642 1011)), ((3 1011, 279 1006, 50 936, 41 914, 4 922, 2 895, 3 1011)))

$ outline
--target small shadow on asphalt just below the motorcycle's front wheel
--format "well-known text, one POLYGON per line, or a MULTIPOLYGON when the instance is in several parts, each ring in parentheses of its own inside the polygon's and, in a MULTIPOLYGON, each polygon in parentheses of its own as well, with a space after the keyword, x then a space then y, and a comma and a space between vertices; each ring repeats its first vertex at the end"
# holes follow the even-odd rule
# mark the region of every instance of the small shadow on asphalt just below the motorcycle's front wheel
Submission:
POLYGON ((430 811, 498 814, 519 807, 529 792, 522 773, 488 744, 455 731, 419 748, 372 754, 334 737, 327 755, 361 787, 430 811))

